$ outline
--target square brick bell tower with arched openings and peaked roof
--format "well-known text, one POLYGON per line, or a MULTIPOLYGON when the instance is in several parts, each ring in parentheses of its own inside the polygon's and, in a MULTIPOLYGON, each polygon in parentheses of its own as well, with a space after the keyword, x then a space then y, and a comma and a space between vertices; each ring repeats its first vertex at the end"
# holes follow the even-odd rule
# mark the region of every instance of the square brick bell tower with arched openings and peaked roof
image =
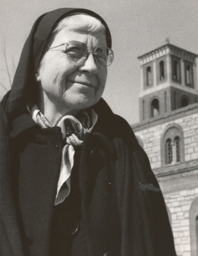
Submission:
POLYGON ((138 57, 140 122, 198 102, 197 56, 166 39, 165 45, 138 57))

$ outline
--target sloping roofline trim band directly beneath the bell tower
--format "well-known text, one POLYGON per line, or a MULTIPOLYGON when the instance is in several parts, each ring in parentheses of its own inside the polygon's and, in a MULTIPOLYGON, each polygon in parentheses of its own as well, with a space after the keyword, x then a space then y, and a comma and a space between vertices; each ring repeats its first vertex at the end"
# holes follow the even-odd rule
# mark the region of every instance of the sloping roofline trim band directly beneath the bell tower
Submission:
POLYGON ((146 128, 154 127, 159 124, 165 124, 169 121, 176 120, 181 117, 188 117, 189 115, 192 115, 194 113, 198 113, 197 103, 188 105, 181 109, 173 110, 172 112, 166 113, 161 117, 153 117, 150 120, 145 120, 141 123, 132 124, 131 128, 133 129, 133 132, 138 132, 146 128))

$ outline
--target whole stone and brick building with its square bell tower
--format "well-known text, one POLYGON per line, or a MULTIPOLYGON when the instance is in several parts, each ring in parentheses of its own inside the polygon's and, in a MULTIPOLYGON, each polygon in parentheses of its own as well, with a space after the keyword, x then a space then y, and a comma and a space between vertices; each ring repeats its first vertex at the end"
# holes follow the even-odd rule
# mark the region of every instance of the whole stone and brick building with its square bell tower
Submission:
POLYGON ((132 125, 165 197, 177 256, 198 256, 196 57, 169 43, 139 57, 140 122, 132 125))

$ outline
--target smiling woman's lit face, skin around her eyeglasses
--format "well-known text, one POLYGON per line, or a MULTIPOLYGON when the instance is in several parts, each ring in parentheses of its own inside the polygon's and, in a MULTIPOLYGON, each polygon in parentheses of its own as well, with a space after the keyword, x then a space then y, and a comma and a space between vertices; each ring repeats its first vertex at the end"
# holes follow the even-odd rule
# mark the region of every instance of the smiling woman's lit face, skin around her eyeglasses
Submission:
MULTIPOLYGON (((93 51, 97 47, 106 47, 105 35, 101 32, 89 33, 60 30, 51 48, 67 43, 70 40, 80 41, 93 51)), ((67 57, 65 45, 49 49, 41 60, 36 79, 40 82, 40 97, 44 108, 48 104, 59 110, 81 110, 99 101, 105 89, 107 67, 99 66, 92 54, 82 63, 76 63, 67 57)))

